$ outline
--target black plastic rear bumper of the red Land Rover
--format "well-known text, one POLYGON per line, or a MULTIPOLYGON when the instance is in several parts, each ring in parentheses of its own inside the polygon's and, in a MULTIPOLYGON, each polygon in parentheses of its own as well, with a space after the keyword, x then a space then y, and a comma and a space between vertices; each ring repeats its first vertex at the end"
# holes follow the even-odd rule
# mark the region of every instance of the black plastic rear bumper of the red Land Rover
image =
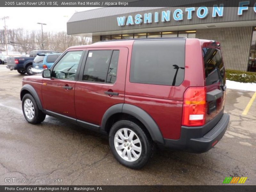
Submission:
POLYGON ((225 134, 229 123, 229 115, 223 114, 220 121, 206 134, 201 136, 204 130, 207 130, 209 124, 200 127, 181 126, 179 140, 164 139, 165 144, 159 144, 159 147, 179 149, 193 153, 204 153, 210 150, 225 134))

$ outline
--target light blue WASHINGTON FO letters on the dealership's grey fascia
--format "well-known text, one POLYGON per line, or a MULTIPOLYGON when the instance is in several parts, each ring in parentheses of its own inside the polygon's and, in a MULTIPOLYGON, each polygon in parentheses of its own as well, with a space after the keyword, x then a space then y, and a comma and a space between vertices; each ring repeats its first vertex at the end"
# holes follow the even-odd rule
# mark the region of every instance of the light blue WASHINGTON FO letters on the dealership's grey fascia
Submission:
MULTIPOLYGON (((243 12, 248 11, 250 5, 250 1, 242 1, 239 2, 239 6, 237 7, 237 15, 243 15, 243 12)), ((250 7, 256 13, 256 3, 253 7, 250 7)), ((212 17, 223 17, 224 14, 224 5, 213 5, 212 7, 212 17)), ((166 22, 166 21, 182 21, 186 17, 188 20, 192 20, 193 13, 195 12, 196 17, 199 19, 204 19, 209 15, 209 8, 205 6, 201 7, 189 7, 185 9, 185 12, 181 9, 174 10, 171 13, 170 10, 162 11, 162 12, 148 12, 144 15, 136 14, 135 17, 129 15, 128 17, 117 17, 117 24, 118 26, 125 26, 125 25, 140 25, 141 23, 158 23, 158 22, 166 22), (172 18, 171 18, 172 17, 172 18)))

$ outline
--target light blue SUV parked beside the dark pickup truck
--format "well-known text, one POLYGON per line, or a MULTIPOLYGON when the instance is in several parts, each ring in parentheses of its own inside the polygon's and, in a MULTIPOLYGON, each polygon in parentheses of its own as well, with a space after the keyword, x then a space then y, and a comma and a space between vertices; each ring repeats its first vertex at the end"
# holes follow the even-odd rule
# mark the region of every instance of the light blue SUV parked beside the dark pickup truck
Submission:
POLYGON ((44 69, 50 69, 61 53, 37 53, 33 61, 33 74, 42 73, 44 69))

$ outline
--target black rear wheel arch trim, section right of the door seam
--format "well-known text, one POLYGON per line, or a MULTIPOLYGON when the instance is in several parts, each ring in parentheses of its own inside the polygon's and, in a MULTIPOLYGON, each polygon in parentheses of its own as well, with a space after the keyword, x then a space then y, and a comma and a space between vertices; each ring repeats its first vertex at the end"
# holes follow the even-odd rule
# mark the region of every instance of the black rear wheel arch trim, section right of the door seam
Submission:
POLYGON ((147 128, 152 140, 156 143, 164 144, 164 138, 158 125, 146 111, 137 106, 124 103, 122 112, 139 119, 140 122, 147 128))

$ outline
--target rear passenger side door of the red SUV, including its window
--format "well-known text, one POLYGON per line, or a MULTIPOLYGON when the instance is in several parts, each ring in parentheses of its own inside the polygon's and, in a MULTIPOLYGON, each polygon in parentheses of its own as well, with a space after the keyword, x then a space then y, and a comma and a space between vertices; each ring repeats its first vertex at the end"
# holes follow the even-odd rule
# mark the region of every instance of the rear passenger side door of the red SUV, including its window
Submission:
POLYGON ((100 125, 108 108, 124 103, 128 48, 88 48, 75 88, 77 119, 100 125))

